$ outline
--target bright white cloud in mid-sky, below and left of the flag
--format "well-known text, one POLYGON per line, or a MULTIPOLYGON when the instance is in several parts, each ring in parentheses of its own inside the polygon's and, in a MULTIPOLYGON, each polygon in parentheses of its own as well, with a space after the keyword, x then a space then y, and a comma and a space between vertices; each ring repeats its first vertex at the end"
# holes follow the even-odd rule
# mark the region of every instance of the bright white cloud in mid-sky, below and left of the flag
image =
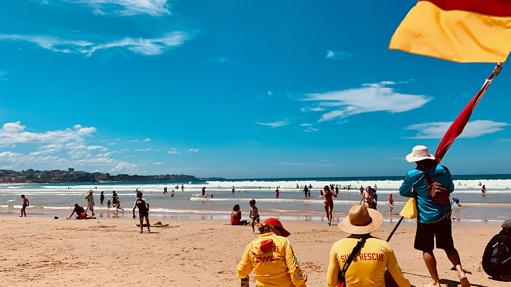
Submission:
POLYGON ((392 88, 386 87, 390 84, 393 82, 365 84, 360 88, 326 93, 309 93, 301 100, 319 102, 319 106, 330 110, 321 115, 318 122, 332 121, 338 117, 366 112, 404 112, 420 108, 432 100, 425 95, 397 93, 392 88))

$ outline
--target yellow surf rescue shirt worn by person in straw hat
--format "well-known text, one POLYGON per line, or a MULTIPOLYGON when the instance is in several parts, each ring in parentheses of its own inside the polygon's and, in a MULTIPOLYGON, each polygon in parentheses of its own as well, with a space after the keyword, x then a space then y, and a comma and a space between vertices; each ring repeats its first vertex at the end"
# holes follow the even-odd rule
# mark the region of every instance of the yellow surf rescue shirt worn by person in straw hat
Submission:
MULTIPOLYGON (((335 287, 340 283, 337 281, 339 270, 352 253, 359 238, 360 235, 351 235, 332 246, 327 274, 329 287, 335 287)), ((348 287, 385 287, 385 268, 388 269, 399 287, 410 287, 410 281, 401 272, 396 255, 388 242, 376 237, 369 237, 346 271, 346 285, 348 287)))

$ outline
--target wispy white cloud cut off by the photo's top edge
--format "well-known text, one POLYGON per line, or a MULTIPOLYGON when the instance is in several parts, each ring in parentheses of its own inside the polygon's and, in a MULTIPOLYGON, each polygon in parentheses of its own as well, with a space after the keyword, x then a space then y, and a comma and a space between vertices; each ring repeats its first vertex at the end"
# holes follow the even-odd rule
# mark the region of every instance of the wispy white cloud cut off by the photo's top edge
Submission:
MULTIPOLYGON (((49 4, 48 0, 39 0, 39 2, 41 4, 49 4)), ((70 1, 60 0, 60 2, 70 1)), ((100 15, 170 15, 170 4, 168 0, 73 0, 71 2, 89 6, 94 9, 94 13, 100 15)))

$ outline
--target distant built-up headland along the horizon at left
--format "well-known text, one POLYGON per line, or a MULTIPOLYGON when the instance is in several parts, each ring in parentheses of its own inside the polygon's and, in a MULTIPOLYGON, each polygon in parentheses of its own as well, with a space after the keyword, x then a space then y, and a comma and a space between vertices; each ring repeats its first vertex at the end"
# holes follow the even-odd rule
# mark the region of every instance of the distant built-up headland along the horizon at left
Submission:
MULTIPOLYGON (((75 171, 69 168, 65 171, 51 170, 39 171, 28 169, 21 172, 0 170, 0 183, 77 183, 77 182, 100 182, 100 181, 191 181, 197 180, 193 175, 128 175, 109 173, 75 171)), ((226 180, 225 178, 201 178, 200 180, 226 180)))

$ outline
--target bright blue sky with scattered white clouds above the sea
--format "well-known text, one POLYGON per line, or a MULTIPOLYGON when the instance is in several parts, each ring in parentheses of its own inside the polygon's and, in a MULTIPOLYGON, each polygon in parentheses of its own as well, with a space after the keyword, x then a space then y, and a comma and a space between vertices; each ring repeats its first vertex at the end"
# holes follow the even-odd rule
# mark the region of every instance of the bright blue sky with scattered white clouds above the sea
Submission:
MULTIPOLYGON (((2 1, 0 169, 405 175, 495 66, 388 50, 415 3, 2 1)), ((511 173, 510 80, 504 63, 452 174, 511 173)))

